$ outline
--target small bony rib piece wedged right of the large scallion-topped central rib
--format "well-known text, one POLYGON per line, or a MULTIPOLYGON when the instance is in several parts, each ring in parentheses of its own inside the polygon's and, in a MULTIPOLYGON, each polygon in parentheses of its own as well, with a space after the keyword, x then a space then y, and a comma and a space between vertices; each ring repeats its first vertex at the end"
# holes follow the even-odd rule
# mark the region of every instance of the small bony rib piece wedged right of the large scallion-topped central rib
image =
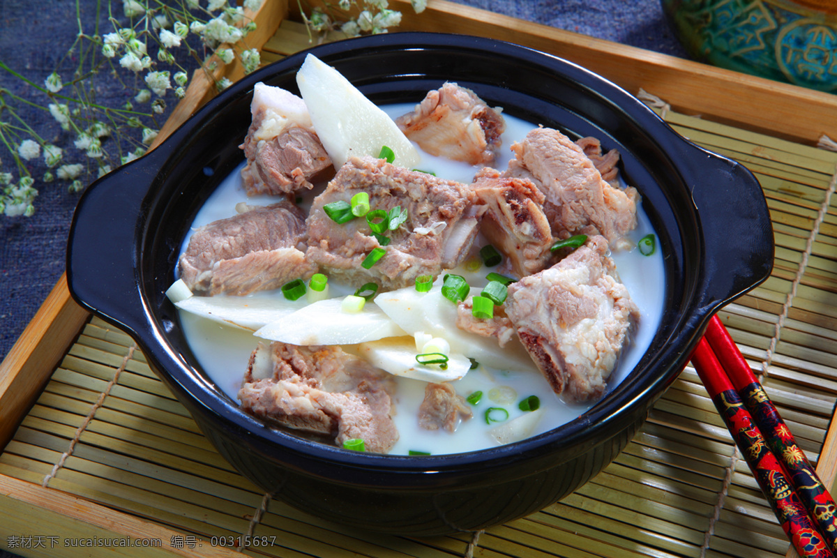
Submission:
POLYGON ((524 277, 547 267, 552 232, 543 193, 526 178, 501 177, 491 168, 479 171, 471 187, 486 208, 480 231, 506 256, 511 272, 524 277))

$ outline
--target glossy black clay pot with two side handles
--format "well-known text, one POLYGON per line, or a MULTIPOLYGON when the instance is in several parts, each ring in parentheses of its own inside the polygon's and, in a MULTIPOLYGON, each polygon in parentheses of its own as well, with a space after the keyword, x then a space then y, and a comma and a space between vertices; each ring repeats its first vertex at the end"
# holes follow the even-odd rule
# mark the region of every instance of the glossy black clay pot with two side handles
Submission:
POLYGON ((249 417, 206 376, 164 292, 198 207, 243 161, 254 84, 298 93, 295 54, 249 75, 162 146, 91 185, 69 238, 69 288, 129 332, 151 366, 244 476, 342 524, 408 535, 479 530, 542 509, 610 463, 686 365, 706 320, 768 277, 773 233, 756 179, 684 140, 639 100, 562 59, 500 41, 391 33, 311 49, 378 103, 418 102, 445 80, 506 114, 598 137, 622 156, 665 252, 665 313, 624 381, 565 426, 472 453, 348 452, 249 417))

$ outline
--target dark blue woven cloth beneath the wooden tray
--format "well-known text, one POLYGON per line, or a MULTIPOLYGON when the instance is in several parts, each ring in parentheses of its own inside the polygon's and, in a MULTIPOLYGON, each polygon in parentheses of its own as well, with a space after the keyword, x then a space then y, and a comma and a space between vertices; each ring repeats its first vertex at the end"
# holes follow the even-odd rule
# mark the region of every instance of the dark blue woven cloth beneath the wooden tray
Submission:
MULTIPOLYGON (((664 54, 686 57, 660 8, 659 0, 455 0, 458 3, 504 13, 556 28, 605 38, 664 54)), ((203 2, 202 2, 203 3, 203 2)), ((73 43, 79 26, 76 3, 68 0, 0 0, 0 61, 43 84, 59 59, 73 43)), ((85 29, 95 18, 95 0, 80 0, 80 18, 85 29)), ((103 3, 106 4, 106 3, 103 3)), ((121 9, 121 2, 113 3, 121 9)), ((101 33, 110 31, 105 23, 101 33)), ((514 36, 508 38, 514 41, 514 36)), ((43 95, 0 69, 0 88, 16 95, 43 95)), ((119 84, 105 85, 98 92, 100 104, 122 105, 126 93, 119 84)), ((38 130, 46 124, 45 139, 60 134, 49 114, 24 110, 23 117, 38 130)), ((0 111, 0 120, 8 114, 0 111)), ((0 149, 0 172, 14 171, 11 157, 0 149)), ((43 173, 43 170, 40 171, 43 173)), ((38 176, 38 175, 36 175, 38 176)), ((64 184, 64 183, 61 183, 64 184)), ((30 218, 0 217, 0 359, 33 318, 39 306, 64 272, 65 243, 74 205, 79 194, 58 184, 37 185, 37 212, 30 218)), ((44 535, 33 525, 32 533, 0 536, 44 535)), ((0 547, 8 540, 0 540, 0 547)), ((25 552, 25 550, 21 550, 25 552)), ((0 558, 9 558, 0 551, 0 558)))

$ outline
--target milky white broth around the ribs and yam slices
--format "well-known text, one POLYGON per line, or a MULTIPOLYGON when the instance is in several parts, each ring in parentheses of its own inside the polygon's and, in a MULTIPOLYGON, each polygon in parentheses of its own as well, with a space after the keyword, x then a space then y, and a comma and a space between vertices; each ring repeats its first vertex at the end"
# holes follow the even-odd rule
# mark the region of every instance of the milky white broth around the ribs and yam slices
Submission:
MULTIPOLYGON (((396 117, 413 110, 412 104, 388 105, 383 107, 389 115, 396 117)), ((506 119, 506 132, 502 136, 502 148, 499 161, 495 168, 505 169, 511 159, 509 146, 514 141, 521 141, 526 133, 534 126, 526 121, 504 115, 506 119)), ((239 202, 247 202, 252 205, 267 205, 275 202, 274 197, 255 196, 248 197, 241 183, 241 168, 235 169, 229 177, 226 177, 218 189, 208 198, 207 202, 198 212, 192 223, 192 228, 198 228, 220 218, 228 218, 235 215, 235 205, 239 202)), ((436 176, 444 177, 459 182, 470 183, 475 167, 448 161, 443 158, 429 156, 422 153, 422 161, 418 166, 423 171, 433 171, 436 176)), ((319 191, 315 187, 315 191, 319 191)), ((310 201, 310 197, 309 200, 310 201)), ((645 234, 654 233, 650 222, 642 208, 637 211, 638 227, 629 238, 634 243, 645 234)), ((188 243, 188 236, 184 239, 182 250, 185 250, 188 243)), ((481 238, 477 239, 475 246, 485 243, 481 238)), ((658 243, 659 244, 659 243, 658 243)), ((613 253, 612 257, 616 263, 619 277, 628 288, 631 298, 639 307, 639 325, 634 332, 631 345, 623 351, 619 363, 608 378, 608 391, 619 384, 625 376, 634 369, 639 358, 650 345, 655 333, 657 324, 663 311, 663 297, 665 294, 665 278, 663 272, 663 258, 660 247, 651 256, 643 256, 634 248, 629 252, 613 253)), ((465 274, 471 284, 471 294, 479 294, 481 286, 472 281, 471 278, 484 278, 485 274, 493 269, 483 266, 477 274, 465 274)), ((483 283, 484 284, 484 283, 483 283)), ((329 280, 330 296, 341 296, 352 294, 360 285, 336 284, 329 280)), ((249 295, 251 298, 259 297, 281 297, 280 290, 261 291, 249 295)), ((250 353, 254 350, 259 338, 255 337, 248 330, 240 330, 232 325, 222 325, 213 320, 201 318, 188 312, 181 311, 183 331, 186 335, 189 346, 198 358, 203 371, 214 381, 223 392, 234 400, 238 399, 239 387, 241 385, 244 371, 246 370, 250 353)), ((451 324, 455 327, 455 324, 451 324)), ((264 343, 269 341, 263 340, 264 343)), ((479 356, 475 356, 479 361, 479 356)), ((541 401, 540 418, 531 435, 544 433, 554 427, 578 417, 582 412, 590 408, 593 403, 574 404, 567 403, 552 392, 542 374, 537 371, 534 363, 528 370, 522 371, 500 371, 479 366, 470 371, 460 380, 452 382, 456 392, 466 397, 471 392, 480 390, 483 392, 481 401, 472 406, 474 416, 460 423, 455 433, 448 433, 446 430, 429 431, 419 427, 418 412, 419 404, 424 398, 424 381, 413 380, 401 376, 395 376, 397 391, 394 396, 396 414, 393 420, 398 427, 399 439, 390 453, 407 454, 412 451, 439 453, 461 453, 470 452, 484 448, 491 448, 497 445, 494 438, 491 438, 488 431, 498 426, 499 423, 488 425, 485 422, 485 410, 489 407, 504 407, 509 412, 508 420, 521 416, 518 402, 525 397, 537 395, 541 401), (516 392, 513 401, 498 403, 491 401, 490 390, 495 387, 511 387, 516 392)))

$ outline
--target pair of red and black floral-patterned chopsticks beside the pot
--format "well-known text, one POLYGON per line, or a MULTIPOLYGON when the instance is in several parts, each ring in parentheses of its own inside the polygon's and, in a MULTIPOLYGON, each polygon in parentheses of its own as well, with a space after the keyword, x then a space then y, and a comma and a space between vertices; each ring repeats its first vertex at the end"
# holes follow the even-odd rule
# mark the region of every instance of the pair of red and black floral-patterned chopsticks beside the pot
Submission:
POLYGON ((691 361, 798 554, 834 558, 834 500, 717 316, 691 361))

